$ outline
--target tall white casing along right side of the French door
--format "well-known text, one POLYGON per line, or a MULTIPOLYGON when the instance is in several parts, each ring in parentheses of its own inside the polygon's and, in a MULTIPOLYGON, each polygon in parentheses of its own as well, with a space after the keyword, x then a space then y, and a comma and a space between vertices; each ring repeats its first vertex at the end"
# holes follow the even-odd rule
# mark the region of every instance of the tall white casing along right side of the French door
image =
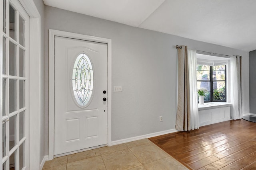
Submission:
MULTIPOLYGON (((28 117, 29 125, 27 143, 29 146, 29 152, 26 152, 25 157, 29 158, 26 169, 37 170, 40 169, 40 114, 41 113, 41 17, 34 4, 33 0, 19 0, 20 4, 23 6, 25 11, 30 17, 30 45, 28 47, 29 51, 29 83, 28 88, 30 91, 29 101, 28 101, 28 117)), ((2 3, 0 4, 0 9, 2 9, 2 3)), ((2 29, 2 12, 0 12, 0 28, 2 29)), ((1 31, 2 32, 2 31, 1 31)), ((0 34, 2 41, 2 33, 0 34)), ((2 54, 2 48, 0 48, 0 54, 2 54)), ((3 57, 3 56, 0 56, 3 57)), ((2 62, 0 62, 2 64, 2 62)), ((1 70, 2 71, 2 70, 1 70)), ((0 74, 2 80, 2 74, 0 74)), ((1 81, 2 82, 2 81, 1 81)), ((2 85, 1 85, 2 86, 2 85)), ((2 96, 2 90, 0 90, 2 96)), ((2 119, 2 115, 0 115, 2 119)), ((0 136, 2 136, 2 126, 0 128, 0 136)), ((0 149, 1 152, 2 148, 0 149)), ((2 156, 0 157, 0 162, 2 162, 2 156)), ((2 166, 0 166, 2 170, 2 166)))

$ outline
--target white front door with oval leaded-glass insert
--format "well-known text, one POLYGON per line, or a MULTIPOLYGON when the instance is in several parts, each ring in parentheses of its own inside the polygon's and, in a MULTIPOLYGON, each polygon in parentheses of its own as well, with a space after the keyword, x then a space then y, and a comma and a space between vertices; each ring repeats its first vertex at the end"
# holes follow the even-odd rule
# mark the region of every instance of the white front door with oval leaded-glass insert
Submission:
POLYGON ((107 144, 107 44, 55 37, 54 155, 107 144))

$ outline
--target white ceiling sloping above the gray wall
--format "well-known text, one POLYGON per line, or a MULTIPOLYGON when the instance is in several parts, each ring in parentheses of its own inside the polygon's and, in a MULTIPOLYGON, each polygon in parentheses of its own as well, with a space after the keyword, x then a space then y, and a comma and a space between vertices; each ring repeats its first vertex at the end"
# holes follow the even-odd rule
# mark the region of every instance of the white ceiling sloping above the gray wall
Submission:
POLYGON ((243 51, 256 49, 256 0, 44 0, 44 3, 243 51))

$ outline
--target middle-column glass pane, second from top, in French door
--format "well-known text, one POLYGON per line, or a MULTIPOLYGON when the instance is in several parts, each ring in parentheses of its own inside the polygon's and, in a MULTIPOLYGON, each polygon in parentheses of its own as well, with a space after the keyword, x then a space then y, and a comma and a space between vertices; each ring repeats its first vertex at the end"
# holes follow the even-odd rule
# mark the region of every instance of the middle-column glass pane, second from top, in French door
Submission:
POLYGON ((9 72, 10 75, 16 76, 16 45, 11 41, 9 44, 9 72))

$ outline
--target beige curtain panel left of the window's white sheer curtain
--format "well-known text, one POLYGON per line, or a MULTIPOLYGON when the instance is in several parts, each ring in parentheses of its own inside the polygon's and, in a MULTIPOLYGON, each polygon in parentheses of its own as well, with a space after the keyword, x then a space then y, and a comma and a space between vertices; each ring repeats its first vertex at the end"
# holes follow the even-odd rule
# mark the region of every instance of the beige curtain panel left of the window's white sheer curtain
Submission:
POLYGON ((190 131, 190 86, 188 74, 188 47, 178 48, 178 107, 175 129, 190 131))

